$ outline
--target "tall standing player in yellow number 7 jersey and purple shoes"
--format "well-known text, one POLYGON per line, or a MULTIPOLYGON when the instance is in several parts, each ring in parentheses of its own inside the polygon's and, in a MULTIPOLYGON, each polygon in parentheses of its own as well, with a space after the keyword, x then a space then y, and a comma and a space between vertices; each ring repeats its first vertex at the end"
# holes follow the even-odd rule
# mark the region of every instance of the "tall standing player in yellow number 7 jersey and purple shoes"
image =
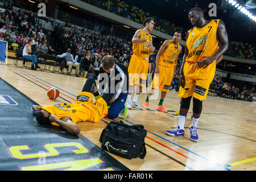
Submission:
POLYGON ((204 11, 195 7, 188 11, 193 28, 187 32, 183 65, 180 71, 181 99, 179 124, 167 135, 184 137, 184 124, 193 96, 193 118, 189 127, 190 139, 197 142, 197 123, 202 111, 202 101, 207 98, 210 83, 216 70, 216 60, 228 49, 228 34, 220 19, 207 20, 204 11), (220 43, 220 48, 218 48, 220 43))

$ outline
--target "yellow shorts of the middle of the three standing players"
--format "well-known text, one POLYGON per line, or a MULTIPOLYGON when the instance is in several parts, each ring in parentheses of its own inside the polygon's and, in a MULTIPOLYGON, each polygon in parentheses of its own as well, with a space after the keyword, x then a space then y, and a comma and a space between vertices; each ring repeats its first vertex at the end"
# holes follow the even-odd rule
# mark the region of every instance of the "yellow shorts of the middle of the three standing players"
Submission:
POLYGON ((172 77, 174 76, 174 67, 166 67, 159 65, 159 74, 154 75, 151 83, 151 88, 163 92, 169 92, 172 83, 172 77))

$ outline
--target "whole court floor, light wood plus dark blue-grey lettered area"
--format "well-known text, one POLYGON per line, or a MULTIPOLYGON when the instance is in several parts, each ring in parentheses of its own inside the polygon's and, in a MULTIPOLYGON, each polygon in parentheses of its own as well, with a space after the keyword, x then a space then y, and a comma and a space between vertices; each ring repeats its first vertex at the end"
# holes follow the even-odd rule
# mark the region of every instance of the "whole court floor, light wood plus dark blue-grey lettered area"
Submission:
MULTIPOLYGON (((16 67, 12 59, 0 65, 0 169, 1 170, 217 170, 255 171, 256 169, 256 103, 208 96, 197 130, 199 141, 192 142, 188 127, 185 137, 165 134, 177 126, 171 118, 179 106, 177 92, 170 91, 163 104, 168 113, 155 111, 159 102, 150 100, 151 110, 128 110, 115 121, 129 125, 141 124, 147 130, 145 158, 125 159, 101 150, 99 138, 106 124, 80 122, 76 137, 55 126, 40 126, 31 114, 31 106, 75 102, 85 78, 32 71, 16 67), (50 100, 46 90, 60 90, 56 100, 50 100)), ((74 71, 74 70, 73 70, 74 71)), ((67 72, 67 71, 66 71, 67 72)), ((146 94, 138 101, 143 105, 146 94)))

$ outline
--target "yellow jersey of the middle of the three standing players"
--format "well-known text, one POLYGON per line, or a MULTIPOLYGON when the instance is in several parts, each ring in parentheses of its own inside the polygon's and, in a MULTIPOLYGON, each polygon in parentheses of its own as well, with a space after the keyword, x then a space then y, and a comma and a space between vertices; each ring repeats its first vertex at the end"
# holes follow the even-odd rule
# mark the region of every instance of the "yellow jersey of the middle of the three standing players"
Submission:
POLYGON ((163 65, 166 67, 174 67, 175 60, 179 56, 180 53, 180 44, 177 43, 177 48, 175 48, 172 40, 169 40, 169 46, 164 50, 162 55, 159 58, 159 65, 163 65))

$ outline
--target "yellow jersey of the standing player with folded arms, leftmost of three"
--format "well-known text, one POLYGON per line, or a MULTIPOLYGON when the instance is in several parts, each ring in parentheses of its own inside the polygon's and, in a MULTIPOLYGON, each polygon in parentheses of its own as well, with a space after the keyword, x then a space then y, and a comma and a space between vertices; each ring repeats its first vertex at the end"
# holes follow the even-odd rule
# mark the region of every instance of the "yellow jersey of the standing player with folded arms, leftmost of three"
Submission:
MULTIPOLYGON (((141 36, 139 36, 139 39, 148 39, 150 41, 152 41, 152 36, 148 33, 146 34, 142 29, 141 30, 141 36)), ((150 56, 150 51, 149 51, 149 47, 147 46, 147 42, 143 42, 143 43, 133 43, 133 53, 135 55, 139 55, 142 57, 146 57, 148 59, 148 57, 150 56)))

